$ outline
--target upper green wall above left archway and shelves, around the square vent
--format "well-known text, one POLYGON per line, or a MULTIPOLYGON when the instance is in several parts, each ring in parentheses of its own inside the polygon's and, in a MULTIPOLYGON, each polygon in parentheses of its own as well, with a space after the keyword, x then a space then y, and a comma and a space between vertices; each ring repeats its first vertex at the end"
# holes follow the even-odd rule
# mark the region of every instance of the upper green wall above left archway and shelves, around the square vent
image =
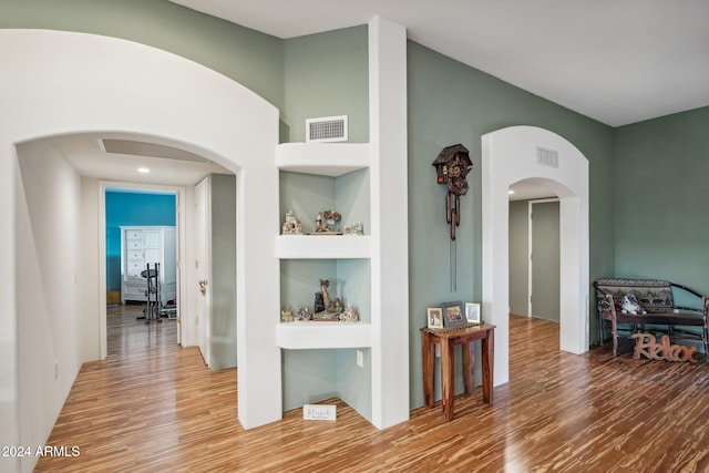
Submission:
POLYGON ((148 44, 234 79, 280 109, 280 141, 305 120, 349 115, 369 141, 367 25, 281 40, 167 0, 0 0, 0 28, 95 33, 148 44))

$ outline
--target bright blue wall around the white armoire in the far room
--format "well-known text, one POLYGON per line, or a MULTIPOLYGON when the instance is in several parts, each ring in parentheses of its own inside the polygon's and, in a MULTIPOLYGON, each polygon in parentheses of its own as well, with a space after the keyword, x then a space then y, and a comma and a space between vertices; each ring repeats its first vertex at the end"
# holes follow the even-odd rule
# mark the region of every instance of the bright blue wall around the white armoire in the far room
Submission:
POLYGON ((175 195, 106 191, 106 290, 121 289, 121 226, 175 226, 175 195))

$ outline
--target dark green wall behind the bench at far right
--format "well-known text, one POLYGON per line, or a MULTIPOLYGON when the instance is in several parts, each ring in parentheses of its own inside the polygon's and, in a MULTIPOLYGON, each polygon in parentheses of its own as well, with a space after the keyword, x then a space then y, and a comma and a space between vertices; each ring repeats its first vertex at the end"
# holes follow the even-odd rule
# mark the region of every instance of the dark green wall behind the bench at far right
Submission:
POLYGON ((709 294, 709 107, 616 130, 616 276, 709 294))

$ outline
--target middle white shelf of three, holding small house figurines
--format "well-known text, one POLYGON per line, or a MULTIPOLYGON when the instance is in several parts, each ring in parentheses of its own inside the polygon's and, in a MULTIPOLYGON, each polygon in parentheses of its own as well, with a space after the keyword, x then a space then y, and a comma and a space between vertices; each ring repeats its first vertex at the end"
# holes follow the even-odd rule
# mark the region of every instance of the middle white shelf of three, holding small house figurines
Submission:
POLYGON ((276 257, 280 259, 357 259, 371 257, 371 236, 278 235, 276 257))

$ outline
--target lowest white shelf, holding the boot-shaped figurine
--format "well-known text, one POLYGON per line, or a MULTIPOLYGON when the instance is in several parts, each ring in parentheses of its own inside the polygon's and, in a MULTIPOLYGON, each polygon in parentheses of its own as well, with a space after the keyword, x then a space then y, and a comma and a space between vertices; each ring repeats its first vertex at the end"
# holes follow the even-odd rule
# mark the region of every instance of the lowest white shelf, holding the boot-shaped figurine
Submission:
POLYGON ((276 345, 290 350, 369 348, 371 325, 367 322, 289 322, 276 327, 276 345))

